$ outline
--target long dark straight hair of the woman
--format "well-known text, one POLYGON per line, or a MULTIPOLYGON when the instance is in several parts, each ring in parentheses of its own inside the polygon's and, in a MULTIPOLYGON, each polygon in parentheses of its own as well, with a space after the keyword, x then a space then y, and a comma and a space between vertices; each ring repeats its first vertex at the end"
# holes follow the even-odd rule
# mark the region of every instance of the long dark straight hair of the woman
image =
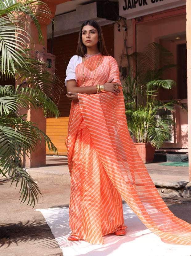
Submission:
POLYGON ((80 31, 79 31, 79 37, 78 37, 78 46, 76 50, 76 55, 83 57, 84 54, 86 53, 86 46, 82 42, 82 29, 84 26, 90 25, 94 28, 97 29, 98 31, 98 38, 100 41, 98 41, 98 49, 101 54, 103 55, 110 55, 108 54, 108 51, 105 47, 105 41, 104 41, 104 36, 100 27, 100 24, 98 24, 95 20, 86 20, 83 22, 81 25, 80 31))

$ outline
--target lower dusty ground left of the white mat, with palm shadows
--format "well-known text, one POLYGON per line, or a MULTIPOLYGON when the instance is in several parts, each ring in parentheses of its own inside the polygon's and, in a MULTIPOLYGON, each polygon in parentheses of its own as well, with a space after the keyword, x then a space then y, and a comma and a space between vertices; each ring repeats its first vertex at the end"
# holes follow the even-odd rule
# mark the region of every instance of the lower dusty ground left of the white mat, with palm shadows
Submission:
POLYGON ((63 255, 43 215, 35 209, 69 205, 70 186, 39 182, 43 198, 32 208, 18 202, 18 189, 10 182, 0 185, 1 191, 1 256, 63 255))

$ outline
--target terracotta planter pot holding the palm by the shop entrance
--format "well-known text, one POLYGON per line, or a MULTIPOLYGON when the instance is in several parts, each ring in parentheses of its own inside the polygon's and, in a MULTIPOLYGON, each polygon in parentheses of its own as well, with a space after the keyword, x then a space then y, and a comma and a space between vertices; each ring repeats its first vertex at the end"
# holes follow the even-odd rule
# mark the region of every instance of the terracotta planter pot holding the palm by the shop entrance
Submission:
POLYGON ((135 146, 143 160, 143 163, 153 162, 155 148, 151 145, 151 143, 135 143, 135 146))

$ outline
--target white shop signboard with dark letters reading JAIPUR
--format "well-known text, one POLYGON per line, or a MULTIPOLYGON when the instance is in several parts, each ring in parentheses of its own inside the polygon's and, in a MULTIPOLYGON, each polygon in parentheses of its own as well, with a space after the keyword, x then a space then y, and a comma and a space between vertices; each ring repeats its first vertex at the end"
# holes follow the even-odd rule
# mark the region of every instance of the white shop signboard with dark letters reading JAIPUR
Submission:
POLYGON ((119 15, 129 20, 183 5, 186 0, 119 0, 119 15))

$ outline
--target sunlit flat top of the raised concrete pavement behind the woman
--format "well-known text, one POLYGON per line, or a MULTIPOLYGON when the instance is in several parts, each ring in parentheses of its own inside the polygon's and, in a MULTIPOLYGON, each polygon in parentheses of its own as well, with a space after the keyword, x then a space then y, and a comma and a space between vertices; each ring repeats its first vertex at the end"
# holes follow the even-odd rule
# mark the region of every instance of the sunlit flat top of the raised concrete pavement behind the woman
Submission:
MULTIPOLYGON (((164 166, 160 165, 161 163, 145 164, 156 185, 162 186, 163 184, 168 185, 168 183, 172 185, 172 182, 189 181, 188 167, 164 166)), ((29 168, 26 169, 26 171, 37 180, 49 180, 51 177, 53 183, 70 184, 70 174, 66 156, 47 156, 45 167, 29 168)))

